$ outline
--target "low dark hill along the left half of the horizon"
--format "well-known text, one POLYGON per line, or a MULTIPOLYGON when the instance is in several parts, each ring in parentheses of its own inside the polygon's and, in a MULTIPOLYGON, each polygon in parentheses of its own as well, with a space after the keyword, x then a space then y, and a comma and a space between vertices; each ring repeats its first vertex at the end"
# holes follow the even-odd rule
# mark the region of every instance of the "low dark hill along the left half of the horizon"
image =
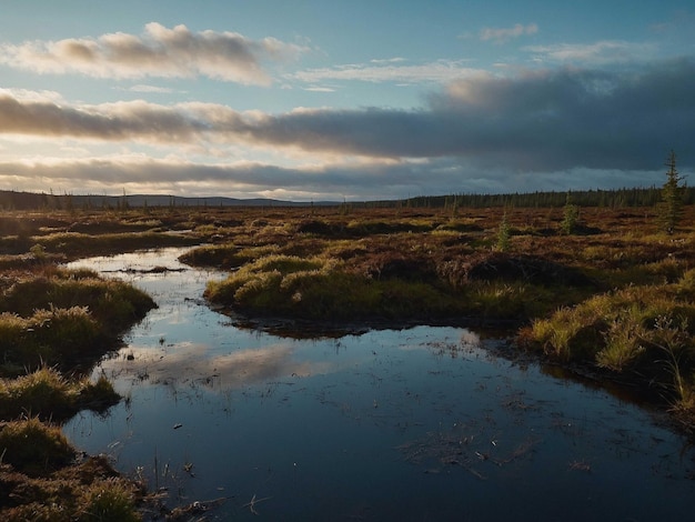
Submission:
POLYGON ((338 205, 335 201, 295 202, 265 198, 236 199, 224 197, 184 198, 180 195, 73 195, 0 190, 0 209, 122 209, 144 207, 309 207, 338 205))

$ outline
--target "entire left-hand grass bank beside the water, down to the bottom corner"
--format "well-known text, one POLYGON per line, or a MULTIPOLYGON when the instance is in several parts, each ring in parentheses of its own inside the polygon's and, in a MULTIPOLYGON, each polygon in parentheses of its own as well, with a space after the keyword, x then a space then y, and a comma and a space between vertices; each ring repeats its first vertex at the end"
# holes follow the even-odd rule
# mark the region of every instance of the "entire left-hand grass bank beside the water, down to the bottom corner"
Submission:
POLYGON ((140 520, 141 489, 103 459, 78 459, 53 422, 120 400, 105 377, 84 375, 154 302, 31 250, 2 258, 0 513, 9 521, 140 520))

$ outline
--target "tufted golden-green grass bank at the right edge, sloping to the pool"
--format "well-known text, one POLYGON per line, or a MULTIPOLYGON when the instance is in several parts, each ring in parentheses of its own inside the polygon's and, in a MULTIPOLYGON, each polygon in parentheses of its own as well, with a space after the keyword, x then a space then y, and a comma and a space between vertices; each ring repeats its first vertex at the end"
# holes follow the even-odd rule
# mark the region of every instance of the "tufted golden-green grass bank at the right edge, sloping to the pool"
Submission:
POLYGON ((695 429, 695 270, 562 308, 535 319, 520 341, 563 363, 637 382, 695 429))

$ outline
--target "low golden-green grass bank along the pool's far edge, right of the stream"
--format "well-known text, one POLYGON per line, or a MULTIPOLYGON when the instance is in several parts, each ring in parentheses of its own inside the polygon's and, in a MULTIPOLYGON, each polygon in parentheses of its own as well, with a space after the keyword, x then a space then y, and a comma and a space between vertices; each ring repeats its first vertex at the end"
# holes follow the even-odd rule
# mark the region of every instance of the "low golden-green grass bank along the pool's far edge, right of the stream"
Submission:
POLYGON ((205 297, 245 314, 367 324, 520 320, 555 299, 551 289, 527 281, 452 284, 422 260, 390 255, 369 262, 339 255, 261 257, 223 281, 209 282, 205 297))

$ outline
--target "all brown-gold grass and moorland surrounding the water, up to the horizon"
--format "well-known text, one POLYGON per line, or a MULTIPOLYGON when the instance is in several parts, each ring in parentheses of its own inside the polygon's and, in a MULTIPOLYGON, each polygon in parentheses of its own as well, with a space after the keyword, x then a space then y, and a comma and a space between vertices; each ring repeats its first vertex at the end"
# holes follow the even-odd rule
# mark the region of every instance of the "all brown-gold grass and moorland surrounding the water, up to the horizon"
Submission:
MULTIPOLYGON (((3 432, 14 422, 48 430, 47 419, 108 404, 110 383, 83 381, 78 360, 97 360, 153 305, 58 262, 208 242, 182 260, 230 270, 205 295, 243 317, 514 321, 520 347, 649 389, 695 434, 695 207, 671 235, 654 209, 580 211, 572 228, 563 208, 0 212, 3 432)), ((99 465, 92 473, 34 454, 27 471, 6 455, 0 505, 10 520, 131 520, 133 484, 110 482, 99 465)))

